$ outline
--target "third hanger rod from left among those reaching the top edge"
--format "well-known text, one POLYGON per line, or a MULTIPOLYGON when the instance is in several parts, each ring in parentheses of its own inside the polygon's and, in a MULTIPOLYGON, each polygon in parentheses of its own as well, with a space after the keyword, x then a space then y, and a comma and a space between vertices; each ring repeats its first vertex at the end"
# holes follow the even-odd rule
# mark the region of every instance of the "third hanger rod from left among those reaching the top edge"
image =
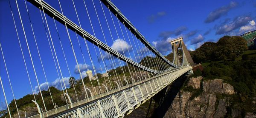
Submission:
MULTIPOLYGON (((39 52, 39 49, 38 49, 38 45, 37 45, 37 41, 36 41, 36 38, 35 38, 35 33, 34 33, 34 29, 33 29, 33 26, 32 26, 31 19, 30 19, 29 9, 27 7, 26 0, 24 0, 24 3, 25 3, 25 6, 26 6, 26 10, 27 10, 28 16, 29 16, 30 27, 32 29, 32 34, 33 34, 33 37, 34 37, 34 40, 35 40, 35 45, 36 45, 36 48, 37 48, 37 51, 38 51, 38 55, 39 55, 39 59, 40 59, 40 62, 41 62, 41 66, 43 68, 44 77, 45 77, 45 80, 47 82, 47 87, 48 87, 48 90, 49 90, 49 93, 50 93, 50 96, 51 96, 51 99, 52 99, 52 93, 51 93, 51 90, 49 88, 48 80, 47 80, 47 77, 46 77, 46 74, 45 74, 45 71, 44 71, 44 65, 43 65, 43 62, 42 62, 42 59, 41 59, 41 55, 40 55, 40 52, 39 52)), ((52 99, 52 104, 53 104, 53 107, 55 108, 53 99, 52 99)))

